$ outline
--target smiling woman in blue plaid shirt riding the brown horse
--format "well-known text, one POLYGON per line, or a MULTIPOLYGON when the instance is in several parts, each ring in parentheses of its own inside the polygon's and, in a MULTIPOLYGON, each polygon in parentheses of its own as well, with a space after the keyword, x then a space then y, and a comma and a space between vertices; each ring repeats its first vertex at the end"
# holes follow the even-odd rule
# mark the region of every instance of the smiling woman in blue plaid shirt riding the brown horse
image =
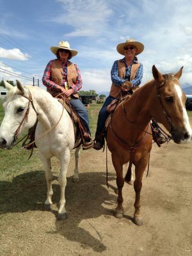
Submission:
POLYGON ((132 94, 138 88, 143 77, 143 64, 138 61, 136 55, 140 54, 144 49, 144 45, 129 39, 122 44, 116 46, 116 50, 124 55, 121 60, 116 60, 111 68, 111 90, 109 97, 100 109, 97 120, 97 131, 95 133, 94 148, 99 150, 104 145, 104 125, 108 118, 107 106, 112 100, 122 94, 132 94))

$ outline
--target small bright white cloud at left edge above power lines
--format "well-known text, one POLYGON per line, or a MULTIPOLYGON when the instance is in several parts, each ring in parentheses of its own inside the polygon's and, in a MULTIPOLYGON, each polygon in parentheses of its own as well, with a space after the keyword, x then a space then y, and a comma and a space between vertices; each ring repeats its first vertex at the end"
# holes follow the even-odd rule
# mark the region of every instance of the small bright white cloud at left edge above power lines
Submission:
POLYGON ((0 58, 12 59, 12 60, 28 60, 29 54, 22 53, 19 49, 4 49, 0 47, 0 58))

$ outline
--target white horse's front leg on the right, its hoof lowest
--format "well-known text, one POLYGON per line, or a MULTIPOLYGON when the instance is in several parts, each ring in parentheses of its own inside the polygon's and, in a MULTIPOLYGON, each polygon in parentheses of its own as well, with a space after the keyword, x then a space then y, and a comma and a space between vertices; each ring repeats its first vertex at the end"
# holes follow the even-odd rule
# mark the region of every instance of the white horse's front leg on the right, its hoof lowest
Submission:
POLYGON ((67 168, 70 161, 70 150, 66 150, 65 154, 61 158, 61 171, 60 176, 58 177, 58 183, 61 188, 61 197, 60 197, 60 209, 58 211, 57 220, 65 220, 67 219, 67 211, 65 210, 65 187, 67 185, 67 168))

